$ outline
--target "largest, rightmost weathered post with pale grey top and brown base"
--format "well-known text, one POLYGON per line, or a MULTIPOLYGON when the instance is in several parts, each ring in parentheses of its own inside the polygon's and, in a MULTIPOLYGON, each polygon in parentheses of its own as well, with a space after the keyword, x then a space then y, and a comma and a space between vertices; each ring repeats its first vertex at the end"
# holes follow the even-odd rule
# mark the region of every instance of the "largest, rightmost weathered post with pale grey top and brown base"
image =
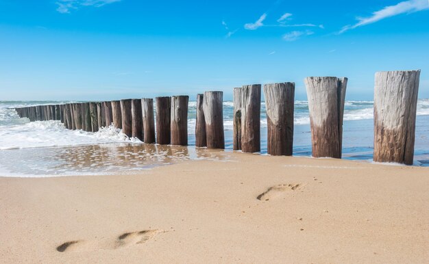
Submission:
POLYGON ((413 164, 419 78, 420 70, 376 72, 374 161, 413 164))

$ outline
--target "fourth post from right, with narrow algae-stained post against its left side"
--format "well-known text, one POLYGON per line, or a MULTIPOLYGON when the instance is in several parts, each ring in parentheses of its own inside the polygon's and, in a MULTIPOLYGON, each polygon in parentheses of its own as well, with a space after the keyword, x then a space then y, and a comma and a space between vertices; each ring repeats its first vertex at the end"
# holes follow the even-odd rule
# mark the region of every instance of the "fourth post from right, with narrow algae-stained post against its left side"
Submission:
POLYGON ((241 94, 241 150, 260 151, 260 84, 244 85, 241 94))

